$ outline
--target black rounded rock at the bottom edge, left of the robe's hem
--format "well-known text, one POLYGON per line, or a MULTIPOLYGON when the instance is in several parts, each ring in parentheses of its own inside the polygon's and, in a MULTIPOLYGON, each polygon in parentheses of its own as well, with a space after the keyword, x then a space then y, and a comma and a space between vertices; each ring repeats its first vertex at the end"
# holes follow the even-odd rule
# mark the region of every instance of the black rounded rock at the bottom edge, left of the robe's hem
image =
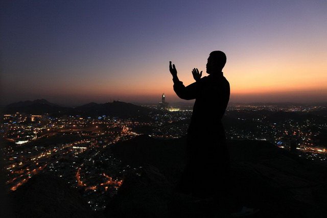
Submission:
POLYGON ((168 217, 171 185, 158 169, 146 165, 142 175, 129 175, 105 210, 106 217, 168 217))

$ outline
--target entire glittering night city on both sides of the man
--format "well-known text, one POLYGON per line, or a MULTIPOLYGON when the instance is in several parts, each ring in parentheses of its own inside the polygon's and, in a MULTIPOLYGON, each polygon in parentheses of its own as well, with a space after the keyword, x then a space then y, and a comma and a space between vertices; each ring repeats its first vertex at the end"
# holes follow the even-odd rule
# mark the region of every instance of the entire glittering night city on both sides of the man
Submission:
MULTIPOLYGON (((151 110, 147 118, 139 119, 106 114, 3 114, 0 131, 5 146, 1 150, 8 191, 19 189, 36 174, 51 172, 77 188, 93 210, 105 209, 124 182, 124 174, 138 175, 142 168, 123 165, 110 151, 112 144, 142 134, 160 139, 186 134, 192 106, 170 107, 163 97, 157 106, 143 108, 151 110)), ((325 106, 314 105, 232 104, 223 122, 227 139, 264 140, 301 158, 325 162, 327 118, 321 115, 325 111, 325 106)))

